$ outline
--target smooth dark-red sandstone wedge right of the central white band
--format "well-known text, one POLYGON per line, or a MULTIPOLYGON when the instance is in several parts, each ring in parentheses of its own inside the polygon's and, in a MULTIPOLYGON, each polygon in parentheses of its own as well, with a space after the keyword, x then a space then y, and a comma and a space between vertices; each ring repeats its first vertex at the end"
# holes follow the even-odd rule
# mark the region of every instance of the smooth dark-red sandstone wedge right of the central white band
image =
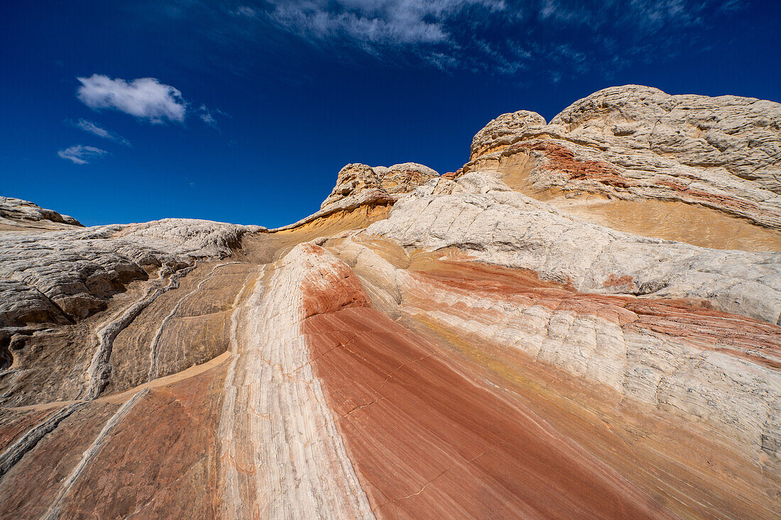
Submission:
MULTIPOLYGON (((327 305, 305 295, 305 308, 327 305)), ((310 357, 380 517, 672 516, 530 410, 369 307, 305 320, 310 357)))

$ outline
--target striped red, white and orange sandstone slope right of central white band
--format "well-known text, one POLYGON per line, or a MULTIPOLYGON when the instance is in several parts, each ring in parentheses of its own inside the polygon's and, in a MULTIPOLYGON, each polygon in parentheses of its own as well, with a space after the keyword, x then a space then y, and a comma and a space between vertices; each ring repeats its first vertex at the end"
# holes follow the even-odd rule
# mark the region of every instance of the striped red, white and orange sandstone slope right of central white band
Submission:
POLYGON ((462 255, 408 255, 357 238, 326 248, 354 265, 384 312, 330 305, 305 331, 376 514, 729 515, 744 508, 736 492, 757 506, 752 515, 772 515, 778 426, 765 418, 776 413, 777 365, 746 351, 777 359, 777 327, 681 303, 634 306, 462 255), (683 316, 723 326, 708 339, 665 329, 683 316), (754 347, 703 350, 726 329, 733 346, 751 337, 754 347), (701 471, 706 459, 713 466, 701 471))

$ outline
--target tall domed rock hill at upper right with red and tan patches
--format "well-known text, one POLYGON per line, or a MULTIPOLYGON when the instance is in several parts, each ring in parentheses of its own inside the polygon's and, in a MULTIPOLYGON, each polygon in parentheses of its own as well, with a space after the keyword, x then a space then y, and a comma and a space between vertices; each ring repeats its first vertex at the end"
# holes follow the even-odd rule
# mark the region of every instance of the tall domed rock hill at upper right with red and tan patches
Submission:
MULTIPOLYGON (((514 189, 536 198, 553 198, 560 207, 633 232, 657 235, 718 235, 688 229, 697 208, 772 230, 759 248, 781 244, 781 105, 737 96, 708 98, 669 95, 637 85, 612 87, 564 109, 546 124, 535 112, 520 111, 494 119, 476 134, 462 172, 497 170, 514 189), (590 199, 577 205, 576 199, 590 199), (604 201, 625 204, 605 204, 604 201), (672 212, 675 222, 632 222, 647 201, 685 205, 672 212), (640 203, 627 205, 626 202, 640 203), (583 207, 587 206, 587 207, 583 207), (623 216, 617 214, 624 213, 623 216), (601 217, 601 220, 599 219, 601 217), (656 226, 654 228, 654 226, 656 226), (666 230, 665 230, 666 226, 666 230), (670 229, 673 228, 673 229, 670 229)), ((670 212, 668 207, 659 213, 670 212)), ((653 220, 647 215, 647 220, 653 220)), ((719 218, 721 217, 721 218, 719 218)), ((741 232, 750 230, 743 226, 741 232)), ((668 236, 669 237, 669 236, 668 236)), ((694 239, 696 240, 696 238, 694 239)), ((699 245, 708 244, 708 239, 699 245)), ((715 240, 731 248, 729 239, 715 240)))

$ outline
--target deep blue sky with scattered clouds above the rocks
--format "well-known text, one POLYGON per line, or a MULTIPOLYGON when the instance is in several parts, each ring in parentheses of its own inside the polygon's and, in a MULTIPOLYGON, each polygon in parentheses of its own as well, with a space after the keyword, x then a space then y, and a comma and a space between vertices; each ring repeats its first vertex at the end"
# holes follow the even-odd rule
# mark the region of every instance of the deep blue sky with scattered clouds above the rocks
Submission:
POLYGON ((3 2, 0 194, 281 226, 348 162, 467 160, 604 87, 781 102, 781 2, 3 2))

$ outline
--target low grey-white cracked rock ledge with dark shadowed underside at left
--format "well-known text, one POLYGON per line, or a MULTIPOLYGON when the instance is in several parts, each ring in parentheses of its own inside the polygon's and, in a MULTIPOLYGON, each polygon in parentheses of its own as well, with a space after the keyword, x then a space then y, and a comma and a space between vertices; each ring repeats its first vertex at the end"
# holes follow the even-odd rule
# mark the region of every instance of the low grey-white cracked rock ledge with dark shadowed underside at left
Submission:
MULTIPOLYGON (((0 243, 0 277, 5 290, 35 290, 41 312, 52 304, 78 320, 101 311, 127 283, 152 272, 169 276, 198 258, 222 258, 236 248, 245 226, 204 220, 166 219, 144 224, 96 226, 84 230, 5 237, 0 243)), ((256 230, 257 228, 255 228, 256 230)), ((0 322, 23 325, 14 298, 0 322)), ((25 303, 20 305, 30 311, 25 303)))

